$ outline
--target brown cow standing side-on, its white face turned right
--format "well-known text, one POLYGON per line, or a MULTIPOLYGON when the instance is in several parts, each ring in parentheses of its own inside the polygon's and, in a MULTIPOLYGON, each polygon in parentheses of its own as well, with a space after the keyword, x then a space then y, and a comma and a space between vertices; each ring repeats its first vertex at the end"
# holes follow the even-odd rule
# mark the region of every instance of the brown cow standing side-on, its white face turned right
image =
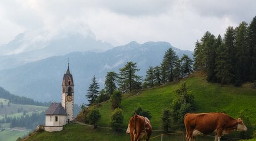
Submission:
POLYGON ((221 136, 234 130, 247 130, 241 118, 234 119, 224 113, 187 113, 184 116, 184 123, 187 130, 187 141, 193 140, 197 135, 213 132, 215 132, 214 141, 220 141, 221 136))

